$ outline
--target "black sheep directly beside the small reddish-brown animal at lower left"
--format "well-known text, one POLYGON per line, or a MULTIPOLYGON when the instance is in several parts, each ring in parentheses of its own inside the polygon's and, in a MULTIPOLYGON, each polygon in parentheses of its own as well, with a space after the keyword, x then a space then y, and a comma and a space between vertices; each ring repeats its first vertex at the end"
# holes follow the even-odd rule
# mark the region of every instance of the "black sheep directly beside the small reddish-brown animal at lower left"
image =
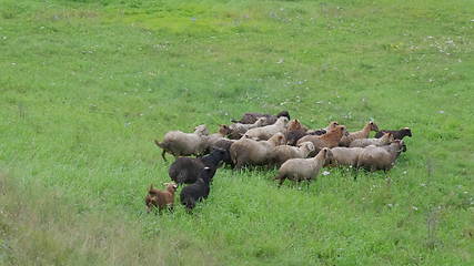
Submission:
POLYGON ((185 206, 188 212, 191 212, 196 202, 208 198, 210 187, 210 180, 212 175, 212 170, 210 167, 204 167, 201 170, 199 178, 195 183, 184 186, 180 193, 181 204, 185 206))

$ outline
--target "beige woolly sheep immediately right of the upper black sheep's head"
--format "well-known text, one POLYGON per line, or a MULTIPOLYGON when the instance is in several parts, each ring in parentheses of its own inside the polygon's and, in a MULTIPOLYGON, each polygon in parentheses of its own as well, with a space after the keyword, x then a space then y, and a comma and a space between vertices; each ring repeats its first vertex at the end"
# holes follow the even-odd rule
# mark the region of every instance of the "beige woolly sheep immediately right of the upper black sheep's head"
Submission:
POLYGON ((235 170, 243 165, 262 165, 269 161, 273 147, 284 144, 283 133, 276 133, 268 141, 241 139, 231 145, 231 157, 235 170))

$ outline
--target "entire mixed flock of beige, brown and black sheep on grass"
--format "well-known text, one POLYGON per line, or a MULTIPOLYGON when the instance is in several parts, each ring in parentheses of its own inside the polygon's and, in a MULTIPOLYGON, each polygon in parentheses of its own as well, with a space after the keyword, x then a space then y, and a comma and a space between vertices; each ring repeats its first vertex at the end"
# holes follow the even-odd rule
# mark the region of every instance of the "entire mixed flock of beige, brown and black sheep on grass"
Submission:
POLYGON ((325 129, 311 130, 299 120, 291 120, 288 111, 276 115, 245 113, 231 125, 220 125, 219 132, 209 134, 205 125, 193 133, 171 131, 155 144, 174 155, 164 191, 150 187, 145 197, 148 211, 172 208, 174 192, 181 184, 180 201, 188 211, 206 198, 212 178, 222 163, 233 170, 266 165, 279 167, 279 186, 285 180, 296 182, 315 178, 323 166, 350 166, 367 171, 389 171, 397 156, 406 151, 404 136, 412 136, 409 127, 399 131, 379 130, 370 121, 356 132, 331 122, 325 129), (375 137, 369 139, 370 133, 375 137), (189 157, 195 155, 196 157, 189 157))

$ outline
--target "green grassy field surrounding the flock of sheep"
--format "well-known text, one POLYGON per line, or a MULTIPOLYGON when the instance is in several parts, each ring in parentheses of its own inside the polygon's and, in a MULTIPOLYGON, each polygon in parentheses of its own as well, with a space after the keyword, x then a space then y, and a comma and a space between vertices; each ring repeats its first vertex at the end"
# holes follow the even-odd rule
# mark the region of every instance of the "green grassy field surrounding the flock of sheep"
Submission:
POLYGON ((473 265, 474 2, 0 0, 0 265, 473 265), (148 215, 153 144, 289 110, 410 126, 387 174, 219 170, 148 215))

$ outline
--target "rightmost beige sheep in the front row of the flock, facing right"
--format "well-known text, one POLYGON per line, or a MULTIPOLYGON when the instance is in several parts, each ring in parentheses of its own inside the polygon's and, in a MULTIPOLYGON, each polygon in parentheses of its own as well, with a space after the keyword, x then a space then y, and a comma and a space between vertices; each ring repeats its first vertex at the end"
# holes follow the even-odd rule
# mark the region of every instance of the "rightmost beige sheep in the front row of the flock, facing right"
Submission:
POLYGON ((367 171, 383 170, 386 172, 393 167, 395 160, 405 151, 406 146, 401 140, 395 140, 386 146, 366 146, 359 155, 357 167, 363 167, 367 171))

